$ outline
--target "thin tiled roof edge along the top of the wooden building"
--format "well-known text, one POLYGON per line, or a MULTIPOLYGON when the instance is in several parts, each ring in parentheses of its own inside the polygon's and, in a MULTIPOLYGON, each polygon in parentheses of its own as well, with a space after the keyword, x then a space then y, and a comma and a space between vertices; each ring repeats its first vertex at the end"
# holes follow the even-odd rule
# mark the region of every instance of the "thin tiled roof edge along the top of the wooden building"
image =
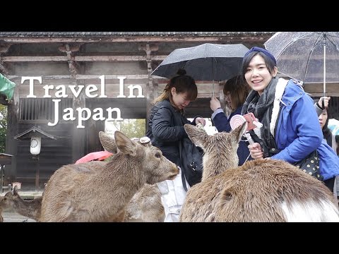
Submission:
POLYGON ((96 37, 96 36, 232 36, 272 35, 274 32, 0 32, 0 37, 96 37))

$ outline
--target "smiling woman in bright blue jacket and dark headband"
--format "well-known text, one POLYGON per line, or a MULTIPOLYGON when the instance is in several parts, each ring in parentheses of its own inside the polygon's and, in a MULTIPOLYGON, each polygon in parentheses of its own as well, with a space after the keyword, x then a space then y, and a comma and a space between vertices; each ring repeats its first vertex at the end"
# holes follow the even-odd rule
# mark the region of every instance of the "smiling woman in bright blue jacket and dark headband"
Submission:
POLYGON ((242 114, 252 112, 263 123, 262 128, 254 129, 252 138, 256 140, 257 136, 262 142, 248 146, 251 157, 283 159, 295 164, 317 150, 326 184, 339 174, 339 159, 323 140, 313 99, 298 80, 276 78, 277 73, 275 57, 266 49, 253 47, 245 54, 242 74, 252 91, 242 114))

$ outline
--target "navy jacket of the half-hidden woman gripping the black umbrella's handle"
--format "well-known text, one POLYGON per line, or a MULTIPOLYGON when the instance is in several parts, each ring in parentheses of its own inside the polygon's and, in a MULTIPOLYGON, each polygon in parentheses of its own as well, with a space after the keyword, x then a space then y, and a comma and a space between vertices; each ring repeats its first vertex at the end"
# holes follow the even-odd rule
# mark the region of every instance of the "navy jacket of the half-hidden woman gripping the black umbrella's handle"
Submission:
MULTIPOLYGON (((227 133, 229 133, 230 131, 232 131, 229 119, 231 119, 232 116, 236 114, 240 114, 240 115, 242 114, 242 106, 238 107, 234 112, 232 112, 232 114, 230 114, 230 117, 228 119, 222 109, 215 110, 211 118, 215 124, 215 128, 217 128, 219 132, 226 131, 227 133)), ((248 160, 252 159, 251 156, 249 157, 249 148, 247 148, 247 143, 244 141, 245 140, 241 140, 239 142, 239 147, 237 150, 237 155, 239 157, 239 166, 244 164, 247 158, 248 160)))

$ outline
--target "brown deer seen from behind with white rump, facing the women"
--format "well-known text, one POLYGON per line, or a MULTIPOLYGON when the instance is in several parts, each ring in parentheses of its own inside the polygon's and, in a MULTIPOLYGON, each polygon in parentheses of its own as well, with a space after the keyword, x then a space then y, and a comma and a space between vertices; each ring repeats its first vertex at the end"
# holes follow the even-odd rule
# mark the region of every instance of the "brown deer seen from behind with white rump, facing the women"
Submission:
POLYGON ((203 179, 187 192, 181 222, 339 222, 331 191, 292 164, 255 159, 237 166, 246 123, 213 136, 184 128, 205 154, 203 179))

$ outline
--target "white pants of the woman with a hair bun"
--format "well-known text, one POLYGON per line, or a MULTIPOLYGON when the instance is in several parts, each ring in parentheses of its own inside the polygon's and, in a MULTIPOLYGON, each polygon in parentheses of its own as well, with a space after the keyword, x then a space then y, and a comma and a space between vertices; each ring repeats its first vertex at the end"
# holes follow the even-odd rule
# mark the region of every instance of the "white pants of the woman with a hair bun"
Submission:
MULTIPOLYGON (((189 189, 187 181, 186 186, 189 189)), ((174 180, 157 183, 157 188, 160 190, 162 205, 165 209, 164 222, 179 222, 179 215, 186 198, 186 191, 182 185, 182 169, 179 170, 174 180)))

